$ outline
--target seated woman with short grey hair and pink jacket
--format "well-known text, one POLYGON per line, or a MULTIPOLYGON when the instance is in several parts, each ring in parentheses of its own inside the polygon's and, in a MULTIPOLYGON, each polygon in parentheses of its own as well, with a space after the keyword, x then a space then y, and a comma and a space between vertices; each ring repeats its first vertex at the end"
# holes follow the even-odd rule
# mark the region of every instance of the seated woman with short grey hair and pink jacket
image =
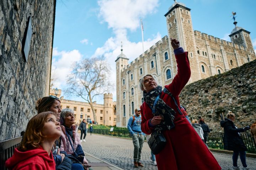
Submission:
MULTIPOLYGON (((67 154, 71 154, 74 156, 73 148, 74 150, 76 150, 76 148, 78 148, 78 145, 81 145, 78 132, 76 131, 76 125, 73 125, 75 123, 74 111, 69 108, 63 109, 60 113, 59 121, 61 124, 60 127, 63 132, 61 135, 62 144, 60 145, 60 151, 65 151, 67 154), (71 139, 70 141, 69 138, 71 139)), ((88 165, 85 157, 83 164, 84 166, 86 166, 86 168, 91 167, 91 165, 88 165)))

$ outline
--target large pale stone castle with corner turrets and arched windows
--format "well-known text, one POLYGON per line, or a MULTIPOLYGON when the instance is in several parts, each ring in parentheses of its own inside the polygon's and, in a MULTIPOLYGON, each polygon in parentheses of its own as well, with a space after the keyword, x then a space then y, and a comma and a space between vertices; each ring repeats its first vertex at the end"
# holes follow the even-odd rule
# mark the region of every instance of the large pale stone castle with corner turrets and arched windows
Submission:
POLYGON ((256 59, 249 33, 239 32, 239 36, 243 37, 241 41, 235 41, 232 36, 231 42, 228 42, 193 30, 190 9, 180 2, 175 2, 169 8, 168 13, 166 15, 168 36, 164 36, 130 64, 128 64, 128 59, 118 57, 116 60, 117 126, 127 126, 133 111, 132 102, 134 102, 134 108, 142 104, 143 96, 139 87, 139 79, 143 75, 153 74, 159 85, 164 86, 170 84, 177 74, 176 58, 170 44, 171 38, 178 39, 183 49, 188 51, 191 67, 191 78, 188 84, 228 72, 232 68, 256 59), (168 53, 168 60, 165 60, 165 52, 168 53), (151 68, 152 61, 154 62, 153 68, 151 68), (140 68, 143 74, 140 74, 140 68), (171 70, 170 79, 166 78, 167 69, 171 70), (131 74, 133 74, 133 80, 131 74), (131 95, 132 88, 134 95, 131 95), (124 92, 125 97, 123 97, 124 92), (125 111, 123 106, 125 106, 125 111))

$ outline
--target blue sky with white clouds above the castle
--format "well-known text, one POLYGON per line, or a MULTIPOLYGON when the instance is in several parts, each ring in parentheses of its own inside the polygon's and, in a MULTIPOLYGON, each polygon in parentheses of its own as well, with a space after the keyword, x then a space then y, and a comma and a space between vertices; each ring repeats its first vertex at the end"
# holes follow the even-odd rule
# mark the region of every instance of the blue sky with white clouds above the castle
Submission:
MULTIPOLYGON (((256 52, 255 0, 180 0, 191 9, 193 29, 230 41, 234 29, 232 11, 237 26, 251 32, 256 52)), ((109 92, 116 101, 117 56, 123 53, 129 63, 140 56, 144 28, 144 51, 167 35, 165 13, 173 0, 57 0, 52 56, 53 88, 65 90, 72 65, 82 58, 104 56, 111 72, 114 88, 109 92)), ((76 96, 65 99, 84 101, 76 96)), ((103 104, 103 96, 94 99, 103 104)))

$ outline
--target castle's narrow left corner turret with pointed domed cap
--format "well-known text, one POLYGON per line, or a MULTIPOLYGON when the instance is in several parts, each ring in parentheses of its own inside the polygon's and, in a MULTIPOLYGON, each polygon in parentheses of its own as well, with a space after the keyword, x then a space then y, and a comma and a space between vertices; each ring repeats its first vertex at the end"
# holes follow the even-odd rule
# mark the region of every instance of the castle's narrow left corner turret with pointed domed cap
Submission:
MULTIPOLYGON (((121 46, 121 54, 119 56, 117 56, 117 60, 116 62, 116 94, 117 94, 117 111, 116 111, 116 117, 117 117, 117 127, 123 126, 122 125, 122 121, 121 121, 121 111, 122 111, 122 91, 121 91, 121 87, 122 87, 122 83, 123 80, 121 80, 121 73, 122 71, 126 68, 126 66, 128 65, 128 58, 126 57, 126 55, 123 54, 123 47, 121 46)), ((124 82, 125 83, 125 82, 124 82)), ((127 108, 127 107, 126 107, 127 108)), ((126 112, 127 113, 127 112, 126 112)))

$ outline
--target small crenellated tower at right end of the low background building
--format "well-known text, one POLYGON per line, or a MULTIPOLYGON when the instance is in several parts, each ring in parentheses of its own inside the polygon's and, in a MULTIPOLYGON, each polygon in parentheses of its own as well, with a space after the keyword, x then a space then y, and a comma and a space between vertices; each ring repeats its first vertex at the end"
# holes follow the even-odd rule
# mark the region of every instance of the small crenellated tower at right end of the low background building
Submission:
POLYGON ((103 124, 113 125, 114 121, 114 107, 113 107, 113 95, 111 93, 104 94, 104 112, 103 112, 103 124))

